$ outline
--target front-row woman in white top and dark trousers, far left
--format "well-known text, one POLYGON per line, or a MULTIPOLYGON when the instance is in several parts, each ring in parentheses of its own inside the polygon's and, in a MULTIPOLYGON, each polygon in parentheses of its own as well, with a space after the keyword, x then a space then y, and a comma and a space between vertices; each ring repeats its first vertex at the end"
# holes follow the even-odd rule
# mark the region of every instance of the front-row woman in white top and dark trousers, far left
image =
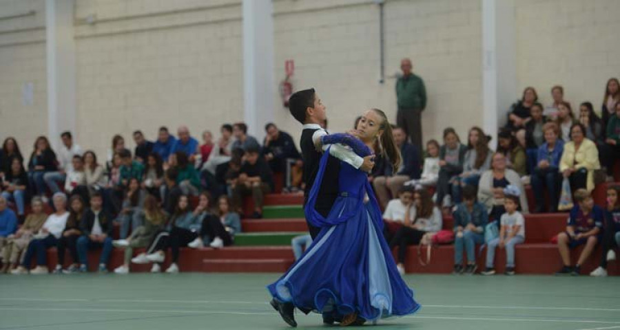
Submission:
POLYGON ((34 239, 30 241, 28 250, 23 259, 23 264, 14 270, 13 274, 25 274, 30 269, 32 263, 32 256, 37 255, 37 267, 30 271, 30 274, 48 274, 47 267, 47 251, 48 248, 56 246, 58 239, 60 238, 65 224, 69 217, 67 212, 67 197, 62 192, 56 192, 54 197, 54 208, 56 212, 50 214, 48 219, 43 223, 43 227, 38 234, 34 236, 34 239))

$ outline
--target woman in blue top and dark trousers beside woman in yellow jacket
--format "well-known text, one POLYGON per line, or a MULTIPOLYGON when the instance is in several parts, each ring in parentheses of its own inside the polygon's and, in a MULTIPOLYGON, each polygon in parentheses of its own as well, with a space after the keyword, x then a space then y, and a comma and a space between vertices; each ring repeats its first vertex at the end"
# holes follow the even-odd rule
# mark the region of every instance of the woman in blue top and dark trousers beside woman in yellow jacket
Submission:
POLYGON ((534 198, 536 201, 535 213, 544 210, 544 187, 549 193, 548 212, 557 212, 559 195, 559 162, 564 152, 564 141, 559 139, 559 128, 555 122, 548 122, 544 126, 545 143, 539 146, 537 166, 531 176, 534 198))

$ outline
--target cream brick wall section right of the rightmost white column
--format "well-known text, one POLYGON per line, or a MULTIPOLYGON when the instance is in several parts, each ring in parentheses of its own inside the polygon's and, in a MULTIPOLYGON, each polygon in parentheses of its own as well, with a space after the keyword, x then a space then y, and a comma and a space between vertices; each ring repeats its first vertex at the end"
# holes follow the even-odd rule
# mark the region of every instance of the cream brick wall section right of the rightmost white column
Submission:
POLYGON ((517 79, 541 101, 564 86, 573 111, 590 101, 600 111, 605 84, 620 76, 620 3, 614 0, 523 0, 517 5, 517 79))

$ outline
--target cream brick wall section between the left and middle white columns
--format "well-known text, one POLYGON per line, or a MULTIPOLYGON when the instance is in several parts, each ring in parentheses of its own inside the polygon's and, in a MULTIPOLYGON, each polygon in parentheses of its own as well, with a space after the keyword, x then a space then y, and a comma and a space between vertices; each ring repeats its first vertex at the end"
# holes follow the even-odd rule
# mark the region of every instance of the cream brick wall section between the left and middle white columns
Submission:
POLYGON ((156 138, 159 126, 187 124, 198 140, 242 119, 240 1, 104 1, 77 3, 77 17, 114 19, 76 28, 79 142, 98 155, 120 133, 156 138), (149 13, 229 4, 178 14, 149 13), (122 19, 127 16, 138 16, 122 19), (119 19, 121 18, 121 19, 119 19), (209 23, 228 19, 222 23, 209 23))

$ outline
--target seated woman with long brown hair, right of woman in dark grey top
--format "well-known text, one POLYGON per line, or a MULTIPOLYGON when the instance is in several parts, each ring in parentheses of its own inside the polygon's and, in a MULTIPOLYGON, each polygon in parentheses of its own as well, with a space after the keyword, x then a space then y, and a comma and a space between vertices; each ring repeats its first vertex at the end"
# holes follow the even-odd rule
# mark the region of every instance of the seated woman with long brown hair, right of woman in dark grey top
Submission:
POLYGON ((461 202, 461 190, 464 186, 478 186, 480 175, 490 168, 490 159, 493 151, 488 147, 488 137, 477 126, 469 130, 467 152, 463 164, 463 173, 455 178, 452 184, 452 199, 454 203, 461 202))

